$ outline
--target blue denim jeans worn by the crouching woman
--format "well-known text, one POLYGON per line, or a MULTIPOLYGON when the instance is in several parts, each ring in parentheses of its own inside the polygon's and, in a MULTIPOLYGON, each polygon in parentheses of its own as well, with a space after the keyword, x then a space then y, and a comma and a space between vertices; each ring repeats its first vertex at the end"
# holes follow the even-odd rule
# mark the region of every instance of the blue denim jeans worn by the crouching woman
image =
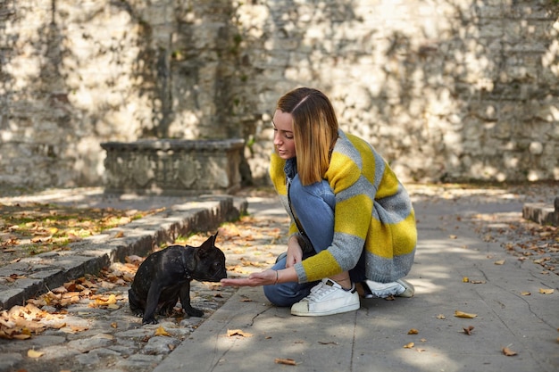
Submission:
MULTIPOLYGON (((322 180, 313 185, 303 186, 296 176, 288 188, 291 208, 299 219, 305 235, 313 244, 313 252, 306 254, 303 259, 327 249, 334 238, 334 211, 336 197, 327 181, 322 180)), ((286 268, 287 257, 278 260, 271 269, 286 268)), ((349 270, 354 282, 365 279, 364 254, 354 269, 349 270)), ((268 301, 277 306, 291 306, 304 299, 311 292, 311 288, 318 282, 309 283, 281 283, 278 285, 264 285, 264 294, 268 301)))

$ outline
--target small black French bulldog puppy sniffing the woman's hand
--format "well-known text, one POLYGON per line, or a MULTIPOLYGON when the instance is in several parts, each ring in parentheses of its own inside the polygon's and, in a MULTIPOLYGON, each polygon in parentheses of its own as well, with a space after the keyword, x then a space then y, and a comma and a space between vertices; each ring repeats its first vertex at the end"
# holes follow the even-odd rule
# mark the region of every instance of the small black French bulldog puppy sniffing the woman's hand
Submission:
POLYGON ((190 306, 190 282, 219 282, 227 277, 225 254, 214 245, 216 237, 217 233, 199 247, 171 245, 141 263, 128 298, 130 310, 143 317, 143 325, 157 324, 155 312, 171 315, 179 299, 188 315, 204 315, 204 311, 190 306))

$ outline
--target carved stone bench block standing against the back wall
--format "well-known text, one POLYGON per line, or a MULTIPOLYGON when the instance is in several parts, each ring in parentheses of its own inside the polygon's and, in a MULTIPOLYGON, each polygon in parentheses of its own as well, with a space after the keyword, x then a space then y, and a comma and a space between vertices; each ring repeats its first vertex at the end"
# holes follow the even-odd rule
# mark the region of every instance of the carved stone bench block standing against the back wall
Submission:
POLYGON ((228 194, 240 187, 244 140, 107 142, 107 194, 228 194))

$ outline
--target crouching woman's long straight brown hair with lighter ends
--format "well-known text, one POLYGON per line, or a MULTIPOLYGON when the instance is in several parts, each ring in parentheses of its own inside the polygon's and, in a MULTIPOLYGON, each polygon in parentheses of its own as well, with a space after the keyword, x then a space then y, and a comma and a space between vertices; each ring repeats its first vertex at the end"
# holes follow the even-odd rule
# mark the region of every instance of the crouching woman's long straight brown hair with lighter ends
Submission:
POLYGON ((299 87, 283 95, 276 109, 290 113, 293 118, 301 184, 308 186, 321 181, 338 138, 338 119, 332 103, 317 89, 299 87))

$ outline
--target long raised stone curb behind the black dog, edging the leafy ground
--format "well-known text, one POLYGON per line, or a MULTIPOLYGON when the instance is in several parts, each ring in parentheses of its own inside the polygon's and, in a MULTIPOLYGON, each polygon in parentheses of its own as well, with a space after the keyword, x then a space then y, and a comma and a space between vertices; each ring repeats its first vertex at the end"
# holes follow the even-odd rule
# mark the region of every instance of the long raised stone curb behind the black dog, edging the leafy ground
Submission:
POLYGON ((247 205, 245 199, 232 196, 200 196, 71 244, 69 251, 46 252, 14 262, 0 268, 0 277, 21 277, 13 283, 0 283, 0 310, 25 304, 31 297, 86 274, 96 274, 126 256, 145 256, 154 246, 179 236, 217 228, 246 214, 247 205))

